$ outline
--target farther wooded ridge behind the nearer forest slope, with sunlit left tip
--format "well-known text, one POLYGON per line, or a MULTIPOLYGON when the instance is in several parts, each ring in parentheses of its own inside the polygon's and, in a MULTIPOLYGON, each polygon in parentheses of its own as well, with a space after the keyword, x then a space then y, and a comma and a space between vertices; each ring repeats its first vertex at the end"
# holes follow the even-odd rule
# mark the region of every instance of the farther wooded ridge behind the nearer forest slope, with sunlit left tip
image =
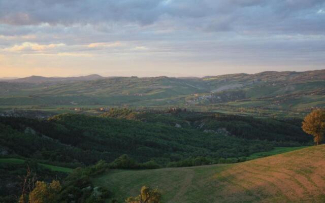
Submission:
POLYGON ((110 109, 101 117, 137 120, 146 123, 164 123, 181 128, 199 129, 246 139, 269 141, 309 142, 310 137, 301 129, 301 119, 273 119, 235 116, 212 112, 186 112, 182 109, 167 111, 132 111, 110 109))

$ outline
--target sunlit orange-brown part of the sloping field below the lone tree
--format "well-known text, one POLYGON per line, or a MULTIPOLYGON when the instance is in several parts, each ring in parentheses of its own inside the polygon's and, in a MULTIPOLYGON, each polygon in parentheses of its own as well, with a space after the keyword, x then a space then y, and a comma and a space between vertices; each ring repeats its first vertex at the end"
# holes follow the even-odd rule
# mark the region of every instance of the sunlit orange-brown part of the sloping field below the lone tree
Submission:
MULTIPOLYGON (((234 164, 214 175, 225 202, 322 202, 325 193, 325 146, 234 164), (250 200, 249 200, 250 199, 250 200), (272 200, 273 199, 273 200, 272 200)), ((219 201, 222 202, 222 201, 219 201)))

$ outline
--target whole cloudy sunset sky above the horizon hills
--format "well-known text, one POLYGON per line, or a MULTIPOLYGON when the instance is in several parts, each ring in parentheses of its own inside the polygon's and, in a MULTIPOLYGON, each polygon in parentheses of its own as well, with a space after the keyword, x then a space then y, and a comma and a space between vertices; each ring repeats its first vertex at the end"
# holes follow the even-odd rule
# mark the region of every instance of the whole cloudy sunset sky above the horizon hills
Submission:
POLYGON ((325 69, 325 0, 0 0, 0 77, 325 69))

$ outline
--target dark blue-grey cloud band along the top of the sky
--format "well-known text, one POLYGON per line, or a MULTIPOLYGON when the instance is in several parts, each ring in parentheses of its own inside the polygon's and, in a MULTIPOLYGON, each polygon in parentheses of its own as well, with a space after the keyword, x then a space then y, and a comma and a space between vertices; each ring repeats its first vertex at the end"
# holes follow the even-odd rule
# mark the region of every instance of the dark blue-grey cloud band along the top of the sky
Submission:
POLYGON ((0 0, 0 23, 11 25, 136 23, 169 19, 206 31, 323 32, 320 0, 0 0), (169 16, 169 18, 167 18, 169 16))

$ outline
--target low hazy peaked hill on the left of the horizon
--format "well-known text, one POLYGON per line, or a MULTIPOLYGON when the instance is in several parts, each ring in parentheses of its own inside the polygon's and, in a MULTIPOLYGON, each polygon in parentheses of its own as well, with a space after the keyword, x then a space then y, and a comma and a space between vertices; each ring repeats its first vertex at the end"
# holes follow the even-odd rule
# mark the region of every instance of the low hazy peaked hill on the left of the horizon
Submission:
POLYGON ((42 76, 30 76, 26 78, 17 78, 13 80, 9 80, 8 82, 13 83, 47 83, 47 82, 73 82, 73 81, 89 81, 89 80, 99 80, 104 77, 100 75, 88 75, 88 76, 80 76, 80 77, 42 77, 42 76))

